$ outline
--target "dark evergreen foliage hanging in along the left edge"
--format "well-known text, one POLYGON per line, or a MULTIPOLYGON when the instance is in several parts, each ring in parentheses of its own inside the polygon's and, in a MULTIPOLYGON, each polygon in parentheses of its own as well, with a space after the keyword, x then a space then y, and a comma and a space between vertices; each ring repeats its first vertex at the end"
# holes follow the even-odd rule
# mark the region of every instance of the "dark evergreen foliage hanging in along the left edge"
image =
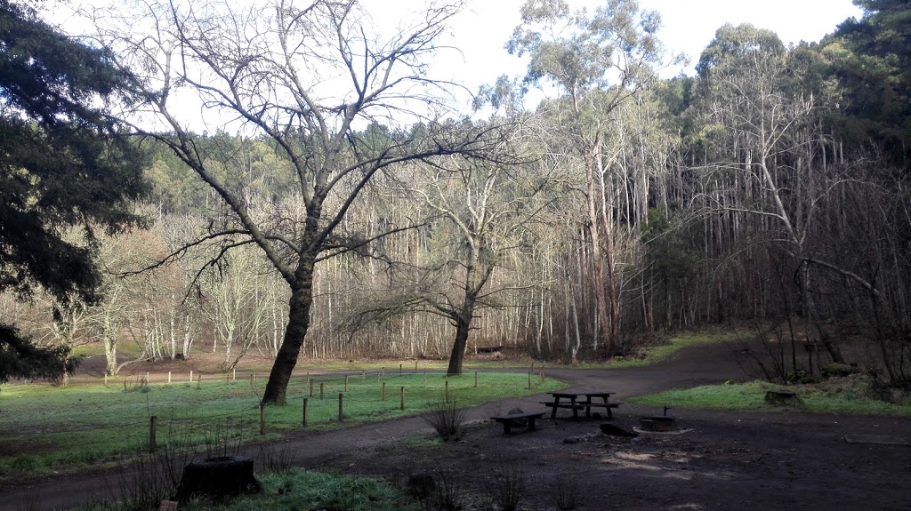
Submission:
MULTIPOLYGON (((138 224, 128 201, 146 191, 140 153, 97 106, 131 80, 106 49, 0 0, 0 291, 27 298, 38 286, 61 301, 97 299, 94 230, 138 224), (81 227, 84 239, 64 239, 66 226, 81 227)), ((65 353, 25 343, 4 330, 4 356, 25 359, 5 359, 0 376, 67 367, 58 360, 65 353)))

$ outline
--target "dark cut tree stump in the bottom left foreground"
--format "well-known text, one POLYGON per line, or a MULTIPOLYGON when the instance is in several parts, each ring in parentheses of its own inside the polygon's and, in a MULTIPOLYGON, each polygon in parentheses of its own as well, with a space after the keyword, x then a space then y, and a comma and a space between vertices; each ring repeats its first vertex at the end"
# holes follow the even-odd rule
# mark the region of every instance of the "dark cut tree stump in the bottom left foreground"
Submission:
POLYGON ((177 500, 187 502, 194 496, 221 501, 231 496, 260 491, 253 477, 253 460, 246 456, 212 457, 193 460, 183 469, 177 500))

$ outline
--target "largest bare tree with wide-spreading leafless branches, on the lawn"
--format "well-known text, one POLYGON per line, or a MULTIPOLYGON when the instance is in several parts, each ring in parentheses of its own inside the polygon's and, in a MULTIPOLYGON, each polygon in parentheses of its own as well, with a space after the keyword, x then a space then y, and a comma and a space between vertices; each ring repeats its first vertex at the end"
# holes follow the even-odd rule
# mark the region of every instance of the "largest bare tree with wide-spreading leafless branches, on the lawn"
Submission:
POLYGON ((226 221, 207 236, 228 236, 229 249, 257 245, 290 287, 288 324, 262 396, 284 403, 310 326, 315 266, 372 241, 352 242, 339 228, 364 186, 409 161, 491 148, 495 130, 466 133, 438 120, 453 115, 446 107, 451 89, 426 75, 426 60, 462 3, 430 5, 391 30, 372 23, 354 0, 143 8, 143 19, 99 13, 100 37, 142 77, 148 109, 129 117, 134 129, 168 145, 223 202, 226 221), (107 25, 118 19, 126 24, 107 25), (271 140, 295 177, 301 215, 257 221, 242 184, 220 178, 200 151, 180 95, 195 98, 201 113, 225 128, 271 140), (380 142, 356 136, 372 123, 402 129, 380 142), (420 129, 404 129, 415 124, 420 129))

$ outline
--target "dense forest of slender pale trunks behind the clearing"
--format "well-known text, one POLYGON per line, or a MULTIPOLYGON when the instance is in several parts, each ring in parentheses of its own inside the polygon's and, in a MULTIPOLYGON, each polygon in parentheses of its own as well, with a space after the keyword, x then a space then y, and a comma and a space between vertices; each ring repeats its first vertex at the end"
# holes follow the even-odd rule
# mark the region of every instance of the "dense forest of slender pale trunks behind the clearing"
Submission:
MULTIPOLYGON (((771 374, 796 373, 809 343, 911 386, 908 3, 862 0, 862 19, 790 47, 724 25, 696 74, 671 79, 658 77, 672 58, 658 20, 635 2, 548 5, 529 2, 504 42, 529 57, 527 75, 484 87, 452 121, 496 131, 508 157, 405 158, 325 196, 345 214, 313 262, 302 356, 445 358, 462 336, 460 353, 574 362, 748 324, 791 350, 770 357, 771 374), (537 86, 548 97, 527 110, 537 86)), ((339 158, 434 136, 354 125, 339 158)), ((310 202, 280 141, 193 140, 258 225, 300 232, 310 202)), ((99 236, 103 299, 6 294, 6 321, 46 345, 104 346, 110 374, 202 350, 226 371, 277 356, 289 286, 168 140, 134 144, 153 185, 134 205, 148 228, 99 236)))

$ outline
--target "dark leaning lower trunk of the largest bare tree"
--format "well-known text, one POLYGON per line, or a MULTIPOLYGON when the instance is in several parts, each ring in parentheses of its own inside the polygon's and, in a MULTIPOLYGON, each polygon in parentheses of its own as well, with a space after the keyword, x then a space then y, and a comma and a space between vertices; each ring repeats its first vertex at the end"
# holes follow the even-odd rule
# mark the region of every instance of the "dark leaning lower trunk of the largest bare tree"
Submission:
POLYGON ((294 273, 295 285, 292 286, 288 307, 288 326, 284 340, 275 356, 269 373, 269 381, 262 395, 263 403, 284 405, 288 382, 291 380, 297 357, 301 354, 303 342, 310 327, 310 307, 313 304, 313 255, 302 255, 301 263, 294 273))

